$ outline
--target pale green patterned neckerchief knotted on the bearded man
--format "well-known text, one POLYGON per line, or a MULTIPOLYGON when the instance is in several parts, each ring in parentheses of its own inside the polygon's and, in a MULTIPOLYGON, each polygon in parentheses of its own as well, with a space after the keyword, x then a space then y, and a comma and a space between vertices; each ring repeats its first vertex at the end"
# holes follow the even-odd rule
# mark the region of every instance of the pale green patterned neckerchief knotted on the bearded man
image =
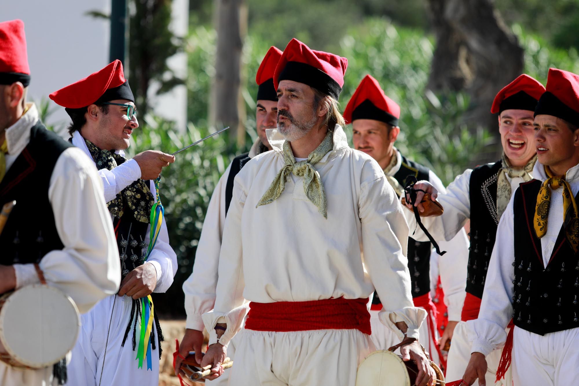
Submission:
POLYGON ((285 141, 283 144, 285 165, 281 168, 280 172, 277 173, 276 178, 269 185, 269 188, 267 188, 265 194, 263 194, 255 207, 276 201, 285 189, 287 177, 290 173, 294 173, 296 177, 303 177, 303 191, 306 193, 307 198, 316 205, 318 212, 327 219, 328 212, 324 185, 320 179, 320 173, 314 169, 314 165, 320 162, 320 160, 324 158, 324 155, 334 148, 333 134, 334 132, 328 130, 322 143, 310 153, 307 159, 299 162, 295 162, 294 152, 291 150, 290 143, 285 141))

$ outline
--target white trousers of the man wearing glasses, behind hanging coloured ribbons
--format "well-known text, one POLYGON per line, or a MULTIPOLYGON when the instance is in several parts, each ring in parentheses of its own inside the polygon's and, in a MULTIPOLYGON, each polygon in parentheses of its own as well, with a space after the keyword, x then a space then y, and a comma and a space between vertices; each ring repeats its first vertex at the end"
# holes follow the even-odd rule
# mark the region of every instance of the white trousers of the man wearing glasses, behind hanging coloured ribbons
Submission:
MULTIPOLYGON (((151 351, 152 370, 147 370, 146 359, 141 369, 138 368, 138 360, 135 360, 137 351, 136 349, 133 351, 134 320, 124 347, 121 347, 124 332, 129 324, 132 301, 127 296, 108 296, 80 316, 82 327, 72 350, 71 364, 68 366, 68 386, 159 385, 159 345, 156 327, 155 349, 151 351), (108 334, 105 355, 109 321, 111 331, 108 334)), ((139 318, 136 326, 137 348, 141 332, 140 320, 139 318)))

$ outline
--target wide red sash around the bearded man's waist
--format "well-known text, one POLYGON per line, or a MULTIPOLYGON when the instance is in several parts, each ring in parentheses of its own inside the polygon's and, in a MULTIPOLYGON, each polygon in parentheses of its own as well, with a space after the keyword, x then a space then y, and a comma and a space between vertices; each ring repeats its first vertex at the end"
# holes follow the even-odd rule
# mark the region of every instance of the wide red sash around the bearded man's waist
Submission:
POLYGON ((368 298, 324 299, 250 303, 245 329, 255 331, 306 331, 356 329, 371 334, 368 298))

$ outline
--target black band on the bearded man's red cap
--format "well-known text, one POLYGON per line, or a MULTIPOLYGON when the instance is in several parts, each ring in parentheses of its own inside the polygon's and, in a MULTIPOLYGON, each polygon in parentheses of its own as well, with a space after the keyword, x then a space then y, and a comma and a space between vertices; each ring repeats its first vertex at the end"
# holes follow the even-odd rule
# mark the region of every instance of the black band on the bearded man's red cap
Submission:
POLYGON ((277 82, 286 80, 304 83, 336 100, 338 100, 342 92, 342 88, 338 82, 324 71, 299 61, 288 61, 288 63, 285 64, 284 69, 281 71, 279 77, 277 77, 277 82))

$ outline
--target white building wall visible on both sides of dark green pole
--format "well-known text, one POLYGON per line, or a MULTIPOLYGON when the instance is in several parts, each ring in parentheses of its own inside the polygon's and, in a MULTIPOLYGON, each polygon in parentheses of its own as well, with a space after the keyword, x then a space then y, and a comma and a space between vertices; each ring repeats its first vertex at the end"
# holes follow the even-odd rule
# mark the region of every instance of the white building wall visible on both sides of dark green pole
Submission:
MULTIPOLYGON (((48 99, 53 91, 85 78, 109 63, 109 21, 85 16, 89 10, 110 14, 111 0, 0 0, 0 21, 24 21, 31 72, 29 100, 48 99)), ((186 36, 188 23, 189 0, 173 0, 171 29, 174 34, 186 36)), ((178 77, 186 77, 185 53, 171 57, 168 65, 178 77)), ((127 78, 130 81, 128 73, 127 78)), ((184 130, 187 122, 185 86, 156 97, 153 94, 157 87, 152 85, 149 89, 153 110, 176 121, 177 127, 184 130)), ((65 125, 69 122, 63 107, 53 101, 50 105, 54 113, 46 123, 65 125)))

